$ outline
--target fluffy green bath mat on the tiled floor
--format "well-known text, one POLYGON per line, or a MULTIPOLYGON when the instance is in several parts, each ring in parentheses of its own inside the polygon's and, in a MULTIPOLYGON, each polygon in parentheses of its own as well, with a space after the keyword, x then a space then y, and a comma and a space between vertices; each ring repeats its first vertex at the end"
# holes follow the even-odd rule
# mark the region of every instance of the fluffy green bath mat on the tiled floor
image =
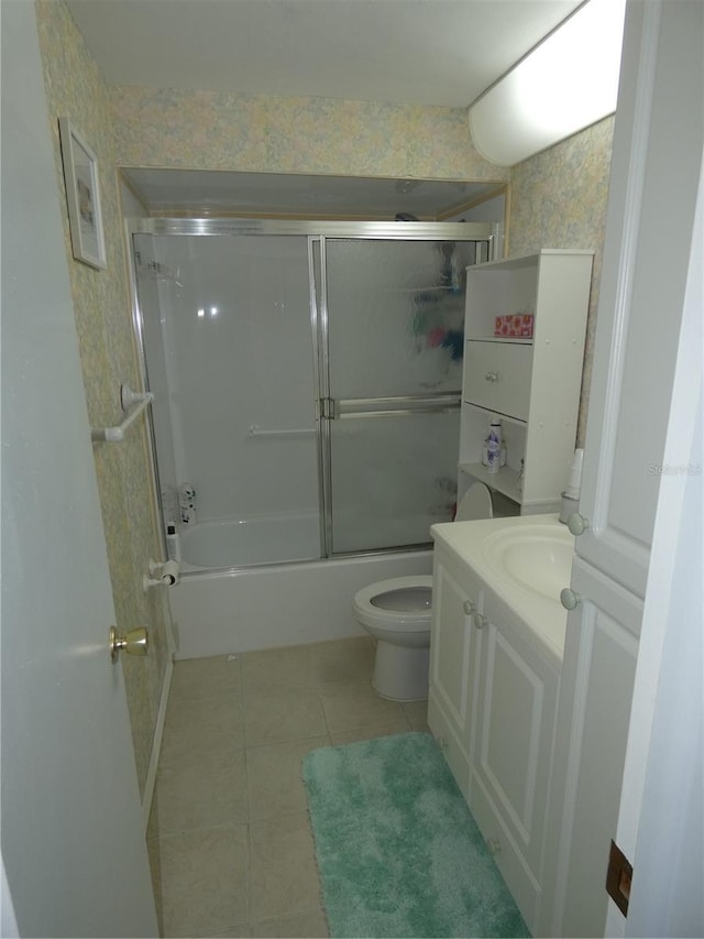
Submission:
POLYGON ((530 935, 430 734, 315 750, 302 777, 334 939, 530 935))

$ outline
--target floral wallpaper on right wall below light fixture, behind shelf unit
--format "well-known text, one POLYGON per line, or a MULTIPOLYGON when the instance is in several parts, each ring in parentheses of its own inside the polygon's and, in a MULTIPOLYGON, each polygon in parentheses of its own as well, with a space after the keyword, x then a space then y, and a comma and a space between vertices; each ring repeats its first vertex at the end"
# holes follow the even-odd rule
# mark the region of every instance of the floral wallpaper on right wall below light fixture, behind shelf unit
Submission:
POLYGON ((595 252, 578 446, 584 441, 592 380, 613 135, 614 118, 609 117, 518 164, 510 177, 510 255, 530 254, 540 248, 595 252))

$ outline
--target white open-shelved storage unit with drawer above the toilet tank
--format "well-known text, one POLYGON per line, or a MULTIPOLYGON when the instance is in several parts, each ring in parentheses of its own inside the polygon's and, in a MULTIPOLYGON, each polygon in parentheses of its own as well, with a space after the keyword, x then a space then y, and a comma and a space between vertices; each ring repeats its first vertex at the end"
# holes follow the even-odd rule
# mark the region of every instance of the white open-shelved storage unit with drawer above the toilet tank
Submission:
POLYGON ((559 510, 574 458, 592 261, 591 251, 546 249, 468 267, 460 498, 481 480, 513 514, 559 510), (497 316, 532 317, 532 335, 496 336, 497 316), (482 449, 494 415, 507 463, 490 473, 482 449))

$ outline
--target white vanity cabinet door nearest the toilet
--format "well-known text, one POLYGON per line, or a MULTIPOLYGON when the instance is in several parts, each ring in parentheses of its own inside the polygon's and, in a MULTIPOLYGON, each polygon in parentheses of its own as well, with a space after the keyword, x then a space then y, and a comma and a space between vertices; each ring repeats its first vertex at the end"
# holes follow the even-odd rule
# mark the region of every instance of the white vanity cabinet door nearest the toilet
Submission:
POLYGON ((477 655, 472 623, 481 604, 479 581, 436 543, 428 723, 464 795, 477 655))

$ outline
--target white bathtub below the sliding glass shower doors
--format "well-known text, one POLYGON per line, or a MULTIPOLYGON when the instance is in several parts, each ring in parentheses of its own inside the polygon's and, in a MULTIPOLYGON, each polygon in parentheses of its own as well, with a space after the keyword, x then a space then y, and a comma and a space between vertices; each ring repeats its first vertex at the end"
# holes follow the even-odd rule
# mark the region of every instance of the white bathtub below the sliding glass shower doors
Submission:
MULTIPOLYGON (((250 520, 250 532, 256 527, 256 523, 252 523, 250 520)), ((316 554, 317 524, 316 518, 316 554)), ((245 527, 246 523, 232 523, 229 535, 233 536, 233 531, 241 535, 245 527)), ((288 553, 290 544, 289 536, 284 534, 285 527, 278 528, 282 555, 288 553)), ((263 543, 257 538, 252 550, 248 549, 248 560, 240 558, 230 561, 228 567, 227 561, 222 563, 224 553, 216 552, 218 547, 234 550, 235 538, 229 539, 226 528, 227 523, 204 522, 182 537, 182 577, 168 590, 176 658, 200 658, 360 635, 363 630, 352 614, 352 598, 358 590, 376 580, 432 572, 430 549, 257 565, 252 560, 254 546, 263 543), (208 535, 212 541, 209 542, 208 535), (205 565, 193 563, 216 555, 222 569, 208 570, 205 565)), ((302 531, 304 526, 298 537, 302 531)), ((264 537, 263 532, 258 534, 264 537)))

